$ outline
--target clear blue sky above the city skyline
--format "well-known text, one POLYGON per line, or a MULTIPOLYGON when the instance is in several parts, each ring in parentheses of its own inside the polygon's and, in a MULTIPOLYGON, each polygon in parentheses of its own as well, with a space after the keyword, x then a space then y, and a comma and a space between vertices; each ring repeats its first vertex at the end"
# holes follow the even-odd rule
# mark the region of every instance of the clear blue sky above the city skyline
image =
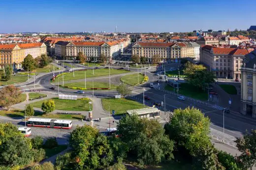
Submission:
POLYGON ((256 25, 256 0, 0 0, 0 32, 187 32, 256 25))

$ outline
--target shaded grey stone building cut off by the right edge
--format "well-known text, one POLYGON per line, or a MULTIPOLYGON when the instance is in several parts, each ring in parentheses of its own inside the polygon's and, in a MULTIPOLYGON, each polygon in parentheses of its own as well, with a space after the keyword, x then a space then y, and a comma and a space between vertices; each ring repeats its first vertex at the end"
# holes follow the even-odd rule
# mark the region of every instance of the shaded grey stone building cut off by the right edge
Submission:
POLYGON ((241 114, 256 118, 256 50, 245 56, 241 67, 241 114))

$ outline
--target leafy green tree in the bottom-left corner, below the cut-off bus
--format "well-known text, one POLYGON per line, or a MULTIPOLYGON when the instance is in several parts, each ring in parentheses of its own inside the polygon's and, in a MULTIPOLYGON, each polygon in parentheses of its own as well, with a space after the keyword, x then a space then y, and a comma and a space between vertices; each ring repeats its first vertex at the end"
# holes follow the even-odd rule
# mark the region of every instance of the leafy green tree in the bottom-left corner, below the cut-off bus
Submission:
POLYGON ((21 135, 12 136, 0 145, 0 164, 4 166, 25 166, 32 160, 31 144, 21 135))

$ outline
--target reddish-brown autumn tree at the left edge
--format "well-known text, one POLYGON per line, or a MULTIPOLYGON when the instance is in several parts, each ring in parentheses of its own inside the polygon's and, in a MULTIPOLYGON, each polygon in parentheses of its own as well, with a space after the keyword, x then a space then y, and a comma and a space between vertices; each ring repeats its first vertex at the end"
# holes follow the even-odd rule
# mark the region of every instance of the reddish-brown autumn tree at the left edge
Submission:
POLYGON ((10 110, 13 104, 16 104, 21 101, 21 92, 20 89, 9 85, 0 91, 0 104, 3 107, 6 107, 7 110, 10 110))

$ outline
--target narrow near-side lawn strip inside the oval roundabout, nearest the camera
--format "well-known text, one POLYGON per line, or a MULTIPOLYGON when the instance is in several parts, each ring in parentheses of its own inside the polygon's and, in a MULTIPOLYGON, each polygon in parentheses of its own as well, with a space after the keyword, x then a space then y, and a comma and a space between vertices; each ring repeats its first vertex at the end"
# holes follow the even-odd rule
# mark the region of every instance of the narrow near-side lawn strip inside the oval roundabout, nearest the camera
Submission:
MULTIPOLYGON (((64 87, 71 88, 71 89, 78 89, 78 90, 86 90, 85 89, 85 82, 75 82, 75 83, 64 83, 64 87)), ((86 82, 86 88, 109 88, 109 83, 105 82, 86 82)), ((116 86, 111 84, 111 89, 115 89, 116 86)))

